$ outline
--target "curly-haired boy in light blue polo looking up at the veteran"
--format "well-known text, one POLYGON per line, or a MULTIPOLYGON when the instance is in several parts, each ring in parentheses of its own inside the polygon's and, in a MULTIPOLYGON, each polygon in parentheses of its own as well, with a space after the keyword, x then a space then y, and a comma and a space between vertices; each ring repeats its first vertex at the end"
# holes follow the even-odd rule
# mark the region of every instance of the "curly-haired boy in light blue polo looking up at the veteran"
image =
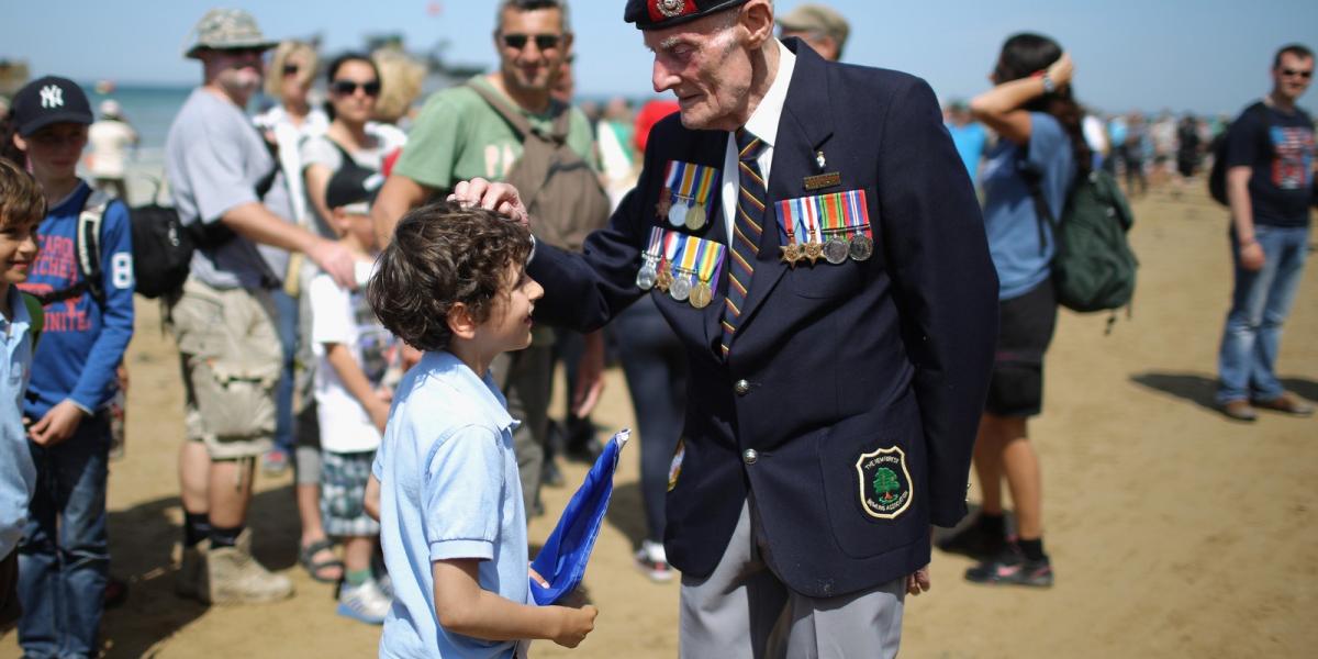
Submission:
MULTIPOLYGON (((493 212, 432 204, 403 216, 368 287, 407 372, 376 453, 394 606, 380 656, 522 656, 527 641, 576 647, 596 609, 534 606, 513 428, 489 365, 526 348, 544 293, 526 275, 527 229, 493 212)), ((368 502, 374 507, 374 501, 368 502)))

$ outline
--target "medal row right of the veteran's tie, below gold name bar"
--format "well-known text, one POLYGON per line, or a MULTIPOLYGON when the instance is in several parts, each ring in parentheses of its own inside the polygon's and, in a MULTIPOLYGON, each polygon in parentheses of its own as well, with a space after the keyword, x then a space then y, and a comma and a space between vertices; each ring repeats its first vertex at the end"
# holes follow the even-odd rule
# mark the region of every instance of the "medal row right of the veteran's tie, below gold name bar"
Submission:
POLYGON ((820 258, 841 265, 874 256, 874 231, 865 190, 778 202, 783 262, 813 266, 820 258))

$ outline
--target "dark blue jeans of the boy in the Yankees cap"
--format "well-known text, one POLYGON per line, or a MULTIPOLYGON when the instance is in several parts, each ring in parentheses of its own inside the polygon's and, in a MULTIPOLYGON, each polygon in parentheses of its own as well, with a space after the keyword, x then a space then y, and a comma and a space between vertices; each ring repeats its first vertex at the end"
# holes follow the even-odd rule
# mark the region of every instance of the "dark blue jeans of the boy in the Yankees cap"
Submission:
POLYGON ((109 576, 109 422, 98 414, 63 444, 29 447, 37 492, 18 546, 18 645, 33 659, 96 656, 109 576))

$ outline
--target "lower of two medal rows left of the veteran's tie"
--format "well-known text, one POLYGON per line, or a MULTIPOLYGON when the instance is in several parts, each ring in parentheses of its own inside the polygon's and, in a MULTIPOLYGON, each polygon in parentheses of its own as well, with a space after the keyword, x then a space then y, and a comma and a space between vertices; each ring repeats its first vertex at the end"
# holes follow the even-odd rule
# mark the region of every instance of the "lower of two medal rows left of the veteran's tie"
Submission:
POLYGON ((677 302, 705 308, 714 298, 726 249, 722 243, 654 227, 646 252, 641 254, 637 287, 659 289, 677 302))

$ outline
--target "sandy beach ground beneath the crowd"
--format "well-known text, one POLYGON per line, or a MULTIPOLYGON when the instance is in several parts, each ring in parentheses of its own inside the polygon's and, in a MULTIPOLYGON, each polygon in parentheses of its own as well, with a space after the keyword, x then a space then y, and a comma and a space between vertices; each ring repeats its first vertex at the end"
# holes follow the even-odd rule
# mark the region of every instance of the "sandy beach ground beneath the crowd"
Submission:
MULTIPOLYGON (((1044 467, 1050 590, 965 583, 969 559, 934 552, 933 590, 908 600, 903 655, 915 658, 1311 656, 1318 645, 1318 419, 1263 414, 1234 423, 1211 409, 1231 282, 1226 212, 1203 195, 1135 202, 1143 268, 1133 318, 1064 312, 1048 357, 1045 413, 1031 426, 1044 467), (1309 613, 1305 613, 1309 612, 1309 613), (1305 622, 1310 621, 1310 622, 1305 622), (1309 650, 1305 650, 1309 648, 1309 650)), ((177 353, 156 303, 138 299, 128 355, 127 456, 111 465, 112 572, 128 601, 104 619, 111 658, 370 656, 378 629, 336 617, 333 588, 297 565, 291 476, 260 477, 254 551, 297 585, 291 600, 211 608, 173 594, 182 434, 177 353)), ((1278 370, 1318 399, 1318 266, 1305 273, 1278 370)), ((561 406, 555 406, 555 410, 561 406)), ((619 369, 596 422, 633 423, 619 369)), ((645 438, 639 438, 645 442, 645 438)), ((538 656, 670 658, 677 584, 631 564, 643 532, 638 452, 623 453, 613 506, 587 573, 600 608, 576 651, 538 656)), ((569 484, 584 465, 565 465, 569 484)), ((571 488, 547 489, 532 542, 571 488)), ((971 503, 975 489, 971 488, 971 503)), ((18 656, 14 633, 0 656, 18 656)))

